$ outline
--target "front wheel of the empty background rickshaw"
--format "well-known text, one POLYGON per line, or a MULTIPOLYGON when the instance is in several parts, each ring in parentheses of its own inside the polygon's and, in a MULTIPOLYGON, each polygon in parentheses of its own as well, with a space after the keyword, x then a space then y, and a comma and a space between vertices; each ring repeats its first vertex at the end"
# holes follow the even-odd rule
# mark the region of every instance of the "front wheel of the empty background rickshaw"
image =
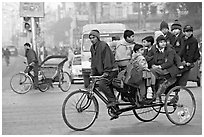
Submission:
POLYGON ((18 94, 27 93, 33 85, 33 81, 30 76, 25 73, 15 74, 10 80, 11 89, 18 94))

